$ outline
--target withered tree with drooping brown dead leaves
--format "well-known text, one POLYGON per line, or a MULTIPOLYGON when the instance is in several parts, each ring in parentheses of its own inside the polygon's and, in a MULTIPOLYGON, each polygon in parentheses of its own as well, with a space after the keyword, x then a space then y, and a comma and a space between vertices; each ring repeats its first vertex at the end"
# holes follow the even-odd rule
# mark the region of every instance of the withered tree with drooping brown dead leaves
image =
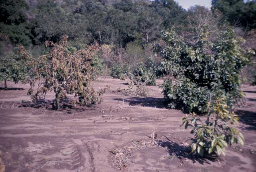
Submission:
POLYGON ((78 97, 73 105, 91 105, 100 103, 100 96, 108 87, 96 92, 93 89, 92 81, 95 79, 95 68, 91 65, 99 45, 91 45, 83 50, 70 51, 68 36, 64 35, 59 44, 47 41, 47 46, 52 46, 49 55, 43 55, 35 59, 20 46, 20 54, 31 62, 34 76, 30 79, 31 88, 28 94, 31 95, 34 103, 39 95, 54 91, 54 109, 59 109, 60 100, 65 99, 67 94, 74 94, 78 97), (35 82, 39 81, 38 88, 34 92, 35 82))

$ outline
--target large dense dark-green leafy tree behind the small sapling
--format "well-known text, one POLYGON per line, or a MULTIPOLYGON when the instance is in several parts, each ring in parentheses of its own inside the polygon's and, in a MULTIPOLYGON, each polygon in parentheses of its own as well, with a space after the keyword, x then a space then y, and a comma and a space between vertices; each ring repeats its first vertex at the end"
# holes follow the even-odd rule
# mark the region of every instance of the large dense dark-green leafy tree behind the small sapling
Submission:
POLYGON ((242 49, 243 40, 227 28, 215 40, 209 41, 207 28, 195 29, 192 40, 184 42, 173 29, 163 33, 166 47, 159 70, 171 74, 174 80, 166 80, 163 93, 172 108, 205 114, 207 102, 227 97, 232 108, 242 97, 239 72, 249 62, 242 49))

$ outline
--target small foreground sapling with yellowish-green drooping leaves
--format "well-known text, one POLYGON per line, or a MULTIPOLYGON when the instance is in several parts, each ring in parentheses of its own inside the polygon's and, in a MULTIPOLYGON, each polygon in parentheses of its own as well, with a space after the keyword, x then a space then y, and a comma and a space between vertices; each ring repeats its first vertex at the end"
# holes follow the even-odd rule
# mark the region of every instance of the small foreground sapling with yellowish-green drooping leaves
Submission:
POLYGON ((208 103, 206 121, 201 121, 195 114, 190 119, 187 115, 182 119, 185 129, 192 127, 192 152, 201 157, 211 154, 225 156, 228 146, 234 143, 244 144, 243 134, 232 126, 238 124, 238 116, 228 110, 226 101, 226 97, 223 97, 217 98, 212 104, 208 103))

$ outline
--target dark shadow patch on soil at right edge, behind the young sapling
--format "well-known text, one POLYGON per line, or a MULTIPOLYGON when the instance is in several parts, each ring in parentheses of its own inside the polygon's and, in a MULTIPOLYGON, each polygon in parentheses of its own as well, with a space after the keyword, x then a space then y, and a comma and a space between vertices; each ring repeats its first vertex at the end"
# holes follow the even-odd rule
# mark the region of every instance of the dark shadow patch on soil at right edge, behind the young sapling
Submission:
POLYGON ((256 112, 248 110, 236 110, 236 114, 239 116, 239 121, 249 125, 247 130, 256 130, 256 112))

